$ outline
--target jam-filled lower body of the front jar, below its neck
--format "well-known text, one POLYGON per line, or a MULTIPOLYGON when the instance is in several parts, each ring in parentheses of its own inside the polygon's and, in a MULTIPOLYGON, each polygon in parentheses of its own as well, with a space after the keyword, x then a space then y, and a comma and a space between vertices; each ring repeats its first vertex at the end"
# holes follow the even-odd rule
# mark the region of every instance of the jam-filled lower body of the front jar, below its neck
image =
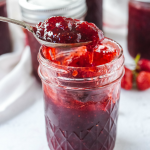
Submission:
POLYGON ((113 150, 120 96, 118 84, 104 89, 73 91, 44 83, 50 150, 113 150), (108 93, 109 90, 114 92, 108 93))

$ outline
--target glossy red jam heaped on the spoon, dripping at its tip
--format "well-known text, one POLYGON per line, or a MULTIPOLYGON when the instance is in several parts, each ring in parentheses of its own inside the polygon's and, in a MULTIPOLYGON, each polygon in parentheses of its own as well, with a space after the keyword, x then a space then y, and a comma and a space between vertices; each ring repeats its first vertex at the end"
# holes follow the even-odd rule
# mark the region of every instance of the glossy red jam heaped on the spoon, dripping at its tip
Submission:
POLYGON ((51 17, 40 22, 34 32, 38 38, 53 43, 80 43, 92 41, 88 51, 97 49, 104 35, 94 24, 65 17, 51 17))

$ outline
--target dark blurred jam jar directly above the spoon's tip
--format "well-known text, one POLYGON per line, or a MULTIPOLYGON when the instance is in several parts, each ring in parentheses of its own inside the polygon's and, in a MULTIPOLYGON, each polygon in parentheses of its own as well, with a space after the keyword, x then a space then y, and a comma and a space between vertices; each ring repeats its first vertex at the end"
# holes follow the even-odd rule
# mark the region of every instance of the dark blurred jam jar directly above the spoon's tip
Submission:
POLYGON ((85 20, 94 23, 102 30, 102 5, 103 0, 86 0, 88 11, 85 20))

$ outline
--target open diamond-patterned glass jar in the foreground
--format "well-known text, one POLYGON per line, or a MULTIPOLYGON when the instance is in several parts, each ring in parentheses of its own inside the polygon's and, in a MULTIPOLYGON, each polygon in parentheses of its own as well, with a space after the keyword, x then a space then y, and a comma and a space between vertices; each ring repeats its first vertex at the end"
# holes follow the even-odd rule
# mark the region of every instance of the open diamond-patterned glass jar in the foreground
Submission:
MULTIPOLYGON (((118 58, 97 67, 69 67, 38 53, 39 76, 45 102, 46 135, 50 150, 113 150, 116 139, 120 82, 124 74, 123 50, 118 58), (78 74, 78 77, 75 76, 78 74), (84 75, 84 78, 83 78, 84 75), (81 77, 82 76, 82 77, 81 77)), ((67 57, 69 51, 58 53, 67 57)))

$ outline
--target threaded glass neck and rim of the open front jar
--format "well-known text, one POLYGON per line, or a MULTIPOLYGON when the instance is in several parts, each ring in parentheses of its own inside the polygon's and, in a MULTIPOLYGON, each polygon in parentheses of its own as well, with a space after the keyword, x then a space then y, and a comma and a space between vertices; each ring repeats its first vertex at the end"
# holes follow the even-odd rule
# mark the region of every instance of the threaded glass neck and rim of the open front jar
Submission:
POLYGON ((123 76, 124 55, 122 47, 112 39, 105 38, 104 44, 117 47, 119 56, 113 61, 95 67, 72 67, 56 64, 42 55, 42 47, 38 53, 40 78, 47 83, 51 83, 65 89, 91 89, 104 87, 107 84, 119 80, 123 76), (73 72, 82 72, 78 77, 73 76, 73 72), (70 84, 71 83, 71 84, 70 84), (80 86, 79 86, 80 85, 80 86))

